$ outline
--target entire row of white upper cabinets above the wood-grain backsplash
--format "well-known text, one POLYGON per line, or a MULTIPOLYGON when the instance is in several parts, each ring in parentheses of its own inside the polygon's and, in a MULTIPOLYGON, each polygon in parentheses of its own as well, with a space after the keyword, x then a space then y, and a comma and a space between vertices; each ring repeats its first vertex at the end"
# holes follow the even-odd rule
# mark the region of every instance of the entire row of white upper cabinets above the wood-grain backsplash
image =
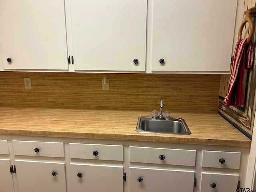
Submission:
POLYGON ((0 0, 0 70, 229 73, 242 3, 0 0))

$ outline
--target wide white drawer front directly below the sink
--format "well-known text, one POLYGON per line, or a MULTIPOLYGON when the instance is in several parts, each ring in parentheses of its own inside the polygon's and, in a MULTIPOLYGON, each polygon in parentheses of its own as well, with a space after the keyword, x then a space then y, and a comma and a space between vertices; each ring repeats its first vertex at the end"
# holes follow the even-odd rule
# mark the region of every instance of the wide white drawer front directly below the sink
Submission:
POLYGON ((131 146, 130 162, 195 166, 196 150, 131 146))

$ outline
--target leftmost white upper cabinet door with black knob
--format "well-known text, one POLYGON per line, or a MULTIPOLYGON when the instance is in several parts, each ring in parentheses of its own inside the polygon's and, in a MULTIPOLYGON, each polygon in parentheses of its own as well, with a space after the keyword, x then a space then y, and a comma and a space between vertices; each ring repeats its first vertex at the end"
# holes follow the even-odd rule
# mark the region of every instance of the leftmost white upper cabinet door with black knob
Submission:
POLYGON ((0 18, 4 69, 68 70, 64 0, 1 0, 0 18))

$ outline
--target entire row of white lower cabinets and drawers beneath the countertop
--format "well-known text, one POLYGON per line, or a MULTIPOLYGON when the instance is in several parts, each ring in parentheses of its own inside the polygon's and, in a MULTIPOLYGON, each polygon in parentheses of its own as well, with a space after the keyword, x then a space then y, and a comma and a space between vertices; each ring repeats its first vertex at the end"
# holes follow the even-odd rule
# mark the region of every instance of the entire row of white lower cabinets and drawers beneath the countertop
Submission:
POLYGON ((238 181, 248 188, 249 153, 235 146, 0 135, 0 192, 235 192, 238 181))

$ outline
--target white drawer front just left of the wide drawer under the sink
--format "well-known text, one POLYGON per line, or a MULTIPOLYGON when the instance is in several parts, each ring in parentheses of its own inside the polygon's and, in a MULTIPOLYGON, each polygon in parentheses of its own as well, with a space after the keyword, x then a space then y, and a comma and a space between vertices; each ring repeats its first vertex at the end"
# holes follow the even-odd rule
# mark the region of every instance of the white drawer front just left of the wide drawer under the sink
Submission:
POLYGON ((99 145, 70 143, 70 158, 95 160, 124 160, 124 147, 121 145, 99 145))

